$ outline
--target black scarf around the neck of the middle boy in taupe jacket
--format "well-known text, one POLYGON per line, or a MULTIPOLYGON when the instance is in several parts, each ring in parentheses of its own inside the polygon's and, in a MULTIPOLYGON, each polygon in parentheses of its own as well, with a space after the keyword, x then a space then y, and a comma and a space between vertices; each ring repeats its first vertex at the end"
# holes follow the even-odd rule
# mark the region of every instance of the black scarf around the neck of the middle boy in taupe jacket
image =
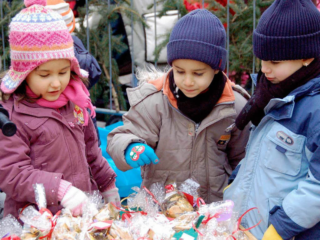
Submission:
POLYGON ((174 83, 173 71, 169 73, 169 87, 177 99, 178 109, 196 123, 200 123, 212 111, 222 95, 226 81, 226 76, 219 71, 205 91, 188 98, 174 83))

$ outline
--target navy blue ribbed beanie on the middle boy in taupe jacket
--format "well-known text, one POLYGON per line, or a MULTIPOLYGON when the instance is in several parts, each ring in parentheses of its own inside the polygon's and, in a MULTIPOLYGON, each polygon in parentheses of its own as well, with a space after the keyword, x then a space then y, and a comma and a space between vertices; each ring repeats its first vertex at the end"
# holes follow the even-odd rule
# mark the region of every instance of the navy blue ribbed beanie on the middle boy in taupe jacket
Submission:
POLYGON ((178 20, 167 44, 167 60, 192 59, 223 71, 226 67, 226 31, 206 9, 196 9, 178 20))

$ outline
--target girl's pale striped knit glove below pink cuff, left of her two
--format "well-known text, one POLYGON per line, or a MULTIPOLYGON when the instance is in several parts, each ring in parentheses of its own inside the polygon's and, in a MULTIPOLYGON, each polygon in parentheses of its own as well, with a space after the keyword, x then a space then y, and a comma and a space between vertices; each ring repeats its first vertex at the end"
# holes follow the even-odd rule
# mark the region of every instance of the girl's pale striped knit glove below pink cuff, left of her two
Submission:
POLYGON ((82 215, 82 206, 87 196, 80 189, 70 186, 61 200, 61 205, 70 210, 72 216, 82 215))

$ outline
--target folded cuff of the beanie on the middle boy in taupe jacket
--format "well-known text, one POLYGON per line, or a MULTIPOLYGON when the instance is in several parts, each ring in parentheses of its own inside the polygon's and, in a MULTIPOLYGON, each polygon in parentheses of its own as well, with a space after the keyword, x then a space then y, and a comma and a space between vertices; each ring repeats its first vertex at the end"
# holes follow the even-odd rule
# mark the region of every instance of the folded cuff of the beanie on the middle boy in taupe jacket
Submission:
POLYGON ((189 40, 178 39, 167 44, 168 64, 176 59, 192 59, 208 64, 214 70, 226 68, 227 50, 221 46, 189 40))

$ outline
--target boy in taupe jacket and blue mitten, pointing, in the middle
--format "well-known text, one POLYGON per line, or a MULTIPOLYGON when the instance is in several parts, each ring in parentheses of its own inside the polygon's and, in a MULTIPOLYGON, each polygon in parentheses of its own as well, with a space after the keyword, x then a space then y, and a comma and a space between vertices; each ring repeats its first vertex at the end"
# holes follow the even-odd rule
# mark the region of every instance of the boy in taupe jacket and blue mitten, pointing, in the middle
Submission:
POLYGON ((167 44, 172 68, 137 73, 139 86, 127 89, 124 126, 108 135, 107 151, 120 170, 141 167, 146 187, 194 176, 206 203, 222 200, 249 137, 249 126, 235 127, 249 96, 222 72, 225 46, 225 29, 208 10, 178 20, 167 44))

